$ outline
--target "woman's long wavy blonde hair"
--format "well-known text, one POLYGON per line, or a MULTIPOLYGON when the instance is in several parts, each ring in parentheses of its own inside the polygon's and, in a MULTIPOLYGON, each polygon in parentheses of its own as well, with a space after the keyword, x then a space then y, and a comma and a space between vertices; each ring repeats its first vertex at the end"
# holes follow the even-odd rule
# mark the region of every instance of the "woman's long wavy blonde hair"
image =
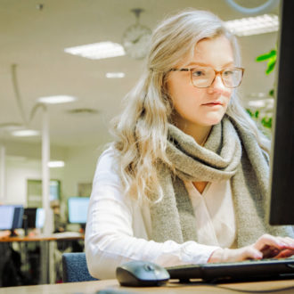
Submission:
MULTIPOLYGON (((151 193, 162 192, 156 162, 161 160, 173 170, 167 159, 167 124, 171 122, 173 106, 166 91, 168 72, 184 56, 194 53, 195 45, 203 38, 224 35, 233 47, 236 66, 241 66, 240 49, 236 38, 225 29, 224 22, 206 11, 185 10, 159 23, 151 37, 142 77, 125 97, 126 107, 113 120, 114 148, 118 151, 118 170, 125 192, 139 200, 150 200, 151 193)), ((265 136, 242 108, 234 90, 226 114, 247 127, 268 152, 265 136)))

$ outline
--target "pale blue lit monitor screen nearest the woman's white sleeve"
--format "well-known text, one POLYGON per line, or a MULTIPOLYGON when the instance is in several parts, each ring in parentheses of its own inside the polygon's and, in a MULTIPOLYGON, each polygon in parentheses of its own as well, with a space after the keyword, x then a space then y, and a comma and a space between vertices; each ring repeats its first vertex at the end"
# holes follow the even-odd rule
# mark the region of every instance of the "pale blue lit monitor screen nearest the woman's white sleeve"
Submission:
POLYGON ((69 223, 86 224, 86 215, 90 198, 71 197, 69 198, 69 223))

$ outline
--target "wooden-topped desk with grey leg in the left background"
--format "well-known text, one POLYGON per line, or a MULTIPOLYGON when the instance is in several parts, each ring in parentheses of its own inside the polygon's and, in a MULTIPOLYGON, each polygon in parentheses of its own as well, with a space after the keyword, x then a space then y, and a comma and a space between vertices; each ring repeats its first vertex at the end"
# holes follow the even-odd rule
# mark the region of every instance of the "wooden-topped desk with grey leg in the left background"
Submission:
POLYGON ((41 283, 54 283, 55 273, 54 273, 54 242, 53 241, 74 241, 74 240, 84 240, 84 235, 80 234, 70 234, 67 233, 57 233, 49 236, 36 235, 36 236, 16 236, 0 239, 0 242, 36 242, 39 241, 41 244, 41 273, 40 282, 41 283))

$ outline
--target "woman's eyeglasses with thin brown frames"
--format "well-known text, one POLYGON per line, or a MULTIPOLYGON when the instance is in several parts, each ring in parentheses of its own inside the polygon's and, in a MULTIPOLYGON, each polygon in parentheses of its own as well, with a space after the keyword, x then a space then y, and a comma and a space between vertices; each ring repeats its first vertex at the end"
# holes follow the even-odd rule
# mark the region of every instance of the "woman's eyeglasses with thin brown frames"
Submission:
POLYGON ((192 85, 198 88, 207 88, 212 85, 217 74, 220 74, 226 87, 235 88, 240 86, 244 73, 244 69, 235 67, 222 70, 208 67, 197 67, 192 69, 170 69, 170 71, 190 71, 192 85))

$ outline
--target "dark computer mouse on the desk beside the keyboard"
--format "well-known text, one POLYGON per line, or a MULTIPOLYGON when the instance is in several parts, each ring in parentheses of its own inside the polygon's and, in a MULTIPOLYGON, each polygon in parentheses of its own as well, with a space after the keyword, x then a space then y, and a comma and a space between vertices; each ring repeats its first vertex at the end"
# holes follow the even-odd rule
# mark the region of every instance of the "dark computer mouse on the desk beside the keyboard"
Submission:
POLYGON ((161 286, 169 280, 167 270, 149 261, 129 261, 117 268, 120 285, 128 287, 161 286))

